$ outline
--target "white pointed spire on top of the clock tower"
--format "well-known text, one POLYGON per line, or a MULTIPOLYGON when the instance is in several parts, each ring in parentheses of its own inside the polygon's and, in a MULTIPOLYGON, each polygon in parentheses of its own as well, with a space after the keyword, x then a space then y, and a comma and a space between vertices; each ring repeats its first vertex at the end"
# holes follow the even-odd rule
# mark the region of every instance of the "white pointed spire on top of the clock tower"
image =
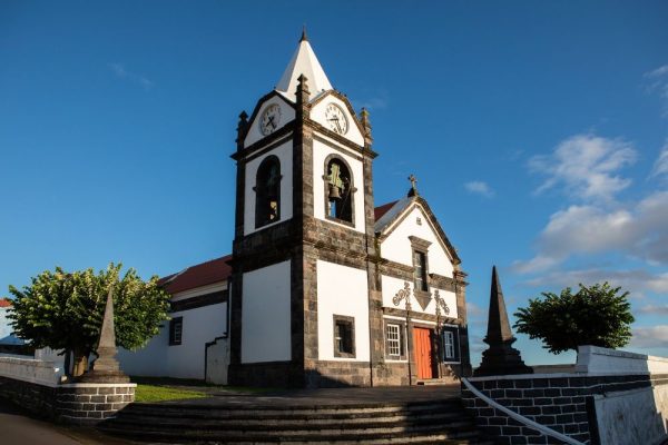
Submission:
POLYGON ((299 46, 283 72, 278 85, 276 85, 276 91, 295 101, 297 78, 301 75, 306 76, 306 79, 308 79, 307 85, 312 97, 332 89, 332 83, 330 83, 327 75, 325 75, 323 67, 317 61, 317 57, 315 57, 315 52, 313 52, 313 48, 311 48, 311 43, 308 43, 306 30, 302 33, 299 46))

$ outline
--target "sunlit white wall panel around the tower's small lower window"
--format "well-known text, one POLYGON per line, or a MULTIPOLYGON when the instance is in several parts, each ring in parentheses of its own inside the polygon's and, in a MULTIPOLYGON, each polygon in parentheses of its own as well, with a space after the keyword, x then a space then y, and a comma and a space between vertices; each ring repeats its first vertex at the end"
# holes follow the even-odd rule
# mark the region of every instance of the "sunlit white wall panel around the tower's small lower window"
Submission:
POLYGON ((317 261, 317 350, 321 360, 369 362, 366 270, 317 261), (334 315, 355 318, 355 358, 334 357, 334 315))

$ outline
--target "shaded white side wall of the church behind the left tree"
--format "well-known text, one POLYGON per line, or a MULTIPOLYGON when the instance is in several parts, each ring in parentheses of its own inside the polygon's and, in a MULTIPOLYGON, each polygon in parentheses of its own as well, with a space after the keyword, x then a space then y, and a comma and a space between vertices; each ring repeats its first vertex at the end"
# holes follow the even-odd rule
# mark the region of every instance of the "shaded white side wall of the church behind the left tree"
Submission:
POLYGON ((119 348, 121 369, 129 375, 205 378, 205 345, 227 332, 227 303, 170 314, 183 317, 181 344, 169 346, 169 322, 137 352, 119 348))

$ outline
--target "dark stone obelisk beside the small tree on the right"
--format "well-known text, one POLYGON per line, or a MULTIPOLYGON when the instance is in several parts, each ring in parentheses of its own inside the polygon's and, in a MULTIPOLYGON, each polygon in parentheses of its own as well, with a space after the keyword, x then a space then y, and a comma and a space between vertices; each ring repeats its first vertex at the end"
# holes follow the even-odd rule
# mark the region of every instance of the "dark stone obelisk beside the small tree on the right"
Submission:
POLYGON ((489 347, 482 353, 482 363, 473 373, 475 376, 533 373, 532 368, 524 365, 520 352, 511 346, 515 338, 510 329, 497 266, 492 268, 488 333, 483 342, 489 347))

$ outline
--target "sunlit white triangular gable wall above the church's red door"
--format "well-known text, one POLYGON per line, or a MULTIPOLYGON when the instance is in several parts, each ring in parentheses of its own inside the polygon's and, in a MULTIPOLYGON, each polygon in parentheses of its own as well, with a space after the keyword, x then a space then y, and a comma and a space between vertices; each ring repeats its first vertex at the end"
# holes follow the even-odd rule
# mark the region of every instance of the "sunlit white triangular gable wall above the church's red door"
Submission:
POLYGON ((428 251, 429 273, 452 278, 454 268, 445 251, 445 246, 441 243, 426 214, 418 204, 409 210, 407 216, 394 227, 390 236, 381 244, 383 258, 413 267, 413 248, 409 239, 410 236, 431 243, 428 251), (421 224, 418 222, 418 218, 420 218, 421 224))

